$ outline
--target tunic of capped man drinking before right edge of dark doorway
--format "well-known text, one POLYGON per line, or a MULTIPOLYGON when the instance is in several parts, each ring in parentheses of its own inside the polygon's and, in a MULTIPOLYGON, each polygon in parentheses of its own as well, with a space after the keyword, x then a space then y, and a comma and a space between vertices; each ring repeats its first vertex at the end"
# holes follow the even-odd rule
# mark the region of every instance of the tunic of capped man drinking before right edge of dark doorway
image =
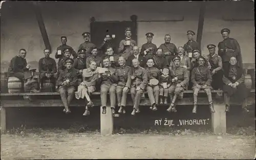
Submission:
POLYGON ((120 41, 119 43, 119 48, 118 48, 118 53, 120 56, 123 56, 125 60, 131 55, 131 51, 133 50, 133 47, 137 45, 136 41, 133 40, 132 38, 125 38, 120 41), (130 40, 130 45, 124 45, 124 42, 130 40))

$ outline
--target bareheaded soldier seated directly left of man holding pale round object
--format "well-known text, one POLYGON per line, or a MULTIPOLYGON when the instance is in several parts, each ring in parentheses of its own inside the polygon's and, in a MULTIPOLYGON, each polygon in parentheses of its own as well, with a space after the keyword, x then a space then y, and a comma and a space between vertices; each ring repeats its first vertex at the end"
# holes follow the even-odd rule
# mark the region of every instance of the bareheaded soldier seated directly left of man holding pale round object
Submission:
POLYGON ((132 68, 132 84, 131 84, 131 97, 133 100, 133 112, 131 115, 135 116, 135 113, 140 112, 139 104, 142 94, 144 93, 144 89, 147 84, 147 71, 139 65, 139 60, 134 58, 132 60, 133 68, 132 68))

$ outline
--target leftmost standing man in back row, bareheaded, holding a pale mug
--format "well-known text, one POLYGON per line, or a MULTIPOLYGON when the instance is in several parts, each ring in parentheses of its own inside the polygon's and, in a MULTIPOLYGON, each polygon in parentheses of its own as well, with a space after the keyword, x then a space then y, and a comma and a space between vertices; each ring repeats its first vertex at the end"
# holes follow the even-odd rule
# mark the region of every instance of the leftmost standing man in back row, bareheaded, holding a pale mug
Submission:
MULTIPOLYGON (((61 36, 60 37, 61 40, 61 45, 59 45, 59 47, 57 47, 57 52, 55 53, 55 58, 59 59, 59 61, 64 57, 64 50, 66 49, 70 49, 70 52, 73 56, 73 59, 75 59, 77 57, 76 52, 73 50, 72 47, 70 47, 69 45, 67 45, 67 37, 66 36, 61 36)), ((59 62, 58 61, 58 62, 59 62)))

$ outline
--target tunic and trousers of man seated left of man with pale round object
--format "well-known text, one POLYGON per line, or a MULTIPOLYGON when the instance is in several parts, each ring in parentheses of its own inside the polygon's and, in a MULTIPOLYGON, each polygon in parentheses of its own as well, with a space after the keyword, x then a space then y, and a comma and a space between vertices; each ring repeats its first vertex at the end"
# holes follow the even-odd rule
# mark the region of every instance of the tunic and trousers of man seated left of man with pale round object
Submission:
POLYGON ((135 77, 135 79, 132 80, 131 83, 131 97, 134 103, 134 108, 138 110, 141 95, 144 93, 144 89, 147 84, 147 71, 142 68, 141 66, 133 67, 132 68, 132 76, 135 77), (140 90, 136 90, 137 87, 140 87, 140 90))

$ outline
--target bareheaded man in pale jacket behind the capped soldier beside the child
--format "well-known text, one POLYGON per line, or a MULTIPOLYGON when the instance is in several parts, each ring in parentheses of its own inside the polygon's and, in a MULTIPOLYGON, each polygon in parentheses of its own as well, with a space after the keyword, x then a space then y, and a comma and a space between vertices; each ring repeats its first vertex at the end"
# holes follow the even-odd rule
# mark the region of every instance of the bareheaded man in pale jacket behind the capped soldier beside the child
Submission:
MULTIPOLYGON (((191 61, 190 59, 184 55, 184 48, 183 47, 178 47, 178 56, 180 57, 180 66, 185 68, 186 70, 190 71, 191 70, 191 61)), ((169 70, 172 70, 174 66, 174 62, 170 61, 169 62, 169 70)))

